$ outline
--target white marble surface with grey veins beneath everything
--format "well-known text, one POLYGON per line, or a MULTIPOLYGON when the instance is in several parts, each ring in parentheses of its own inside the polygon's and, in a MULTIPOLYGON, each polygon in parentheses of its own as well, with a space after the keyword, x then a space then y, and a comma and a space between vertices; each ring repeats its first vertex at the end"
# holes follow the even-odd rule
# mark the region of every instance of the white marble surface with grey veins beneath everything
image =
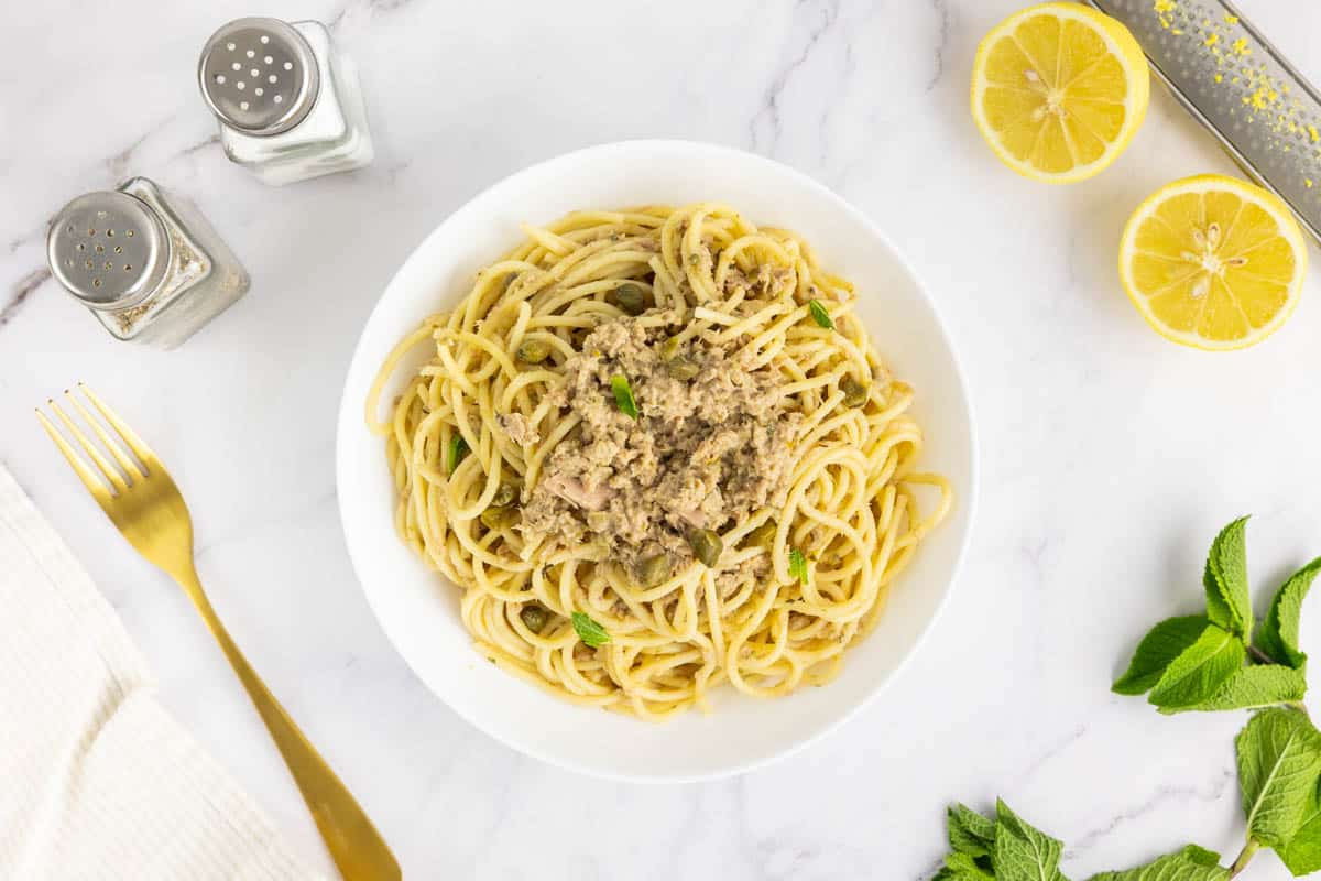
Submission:
MULTIPOLYGON (((226 162, 193 82, 201 42, 250 3, 11 4, 0 460, 119 609, 168 705, 313 863, 312 823, 197 617, 32 419, 74 380, 166 458, 215 605, 410 877, 913 878, 943 852, 942 806, 996 794, 1066 840, 1073 877, 1185 841, 1232 855, 1242 719, 1164 719, 1107 686, 1147 625, 1197 605, 1201 556, 1231 516, 1256 514, 1263 582, 1321 552, 1321 284, 1313 271, 1291 324, 1246 353, 1147 330, 1115 276, 1124 218, 1168 180, 1231 166, 1157 91, 1098 180, 1054 189, 1003 169, 967 82, 978 38, 1018 5, 289 0, 263 11, 332 21, 359 61, 376 162, 271 190, 226 162), (332 469, 358 328, 413 244, 510 172, 643 136, 771 156, 875 218, 951 325, 983 457, 968 563, 901 679, 787 761, 676 787, 543 766, 437 703, 363 602, 332 469), (46 218, 129 173, 194 197, 255 279, 174 353, 111 341, 42 268, 46 218)), ((1240 5, 1321 75, 1321 8, 1240 5)), ((1321 649, 1321 626, 1305 621, 1304 641, 1321 649)), ((1244 877, 1287 874, 1263 855, 1244 877)))

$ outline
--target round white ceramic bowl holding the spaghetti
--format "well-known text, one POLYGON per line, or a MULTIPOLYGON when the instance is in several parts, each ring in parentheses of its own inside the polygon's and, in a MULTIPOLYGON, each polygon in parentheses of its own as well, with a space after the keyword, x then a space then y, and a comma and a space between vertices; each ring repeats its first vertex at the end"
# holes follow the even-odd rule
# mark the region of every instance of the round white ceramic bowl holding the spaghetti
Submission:
MULTIPOLYGON (((423 353, 424 354, 424 353, 423 353)), ((407 369, 407 366, 406 366, 407 369)), ((396 390, 407 370, 395 378, 396 390)), ((387 395, 391 398, 392 395, 387 395)), ((894 247, 857 210, 778 162, 684 141, 626 141, 534 165, 470 201, 413 251, 362 332, 339 407, 339 514, 376 618, 417 676, 454 712, 528 756, 629 781, 691 781, 749 770, 835 728, 897 674, 945 602, 966 546, 975 495, 972 415, 948 335, 894 247), (501 672, 472 647, 458 590, 427 569, 394 531, 383 441, 363 423, 386 353, 427 314, 453 306, 473 273, 515 246, 520 222, 573 209, 721 201, 754 223, 789 227, 822 263, 851 279, 859 314, 896 374, 917 390, 922 466, 947 474, 956 506, 894 585, 878 627, 823 688, 758 700, 721 687, 713 712, 663 724, 575 707, 501 672)))

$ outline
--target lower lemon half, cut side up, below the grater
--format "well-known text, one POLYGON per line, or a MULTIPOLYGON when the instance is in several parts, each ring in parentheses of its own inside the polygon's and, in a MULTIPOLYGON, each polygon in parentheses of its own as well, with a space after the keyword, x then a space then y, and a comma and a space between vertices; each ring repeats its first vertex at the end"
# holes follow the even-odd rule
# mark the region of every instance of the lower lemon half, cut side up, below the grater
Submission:
POLYGON ((1299 304, 1308 252, 1273 193, 1222 174, 1168 184, 1137 206, 1119 244, 1128 297, 1164 337, 1243 349, 1299 304))

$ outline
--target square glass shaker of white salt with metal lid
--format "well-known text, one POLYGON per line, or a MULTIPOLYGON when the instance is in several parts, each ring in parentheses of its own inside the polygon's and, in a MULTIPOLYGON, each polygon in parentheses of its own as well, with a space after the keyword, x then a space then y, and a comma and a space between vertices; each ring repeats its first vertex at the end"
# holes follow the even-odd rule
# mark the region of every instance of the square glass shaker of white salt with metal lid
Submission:
POLYGON ((231 21, 206 41, 197 77, 226 156, 266 184, 371 162, 358 70, 320 21, 231 21))

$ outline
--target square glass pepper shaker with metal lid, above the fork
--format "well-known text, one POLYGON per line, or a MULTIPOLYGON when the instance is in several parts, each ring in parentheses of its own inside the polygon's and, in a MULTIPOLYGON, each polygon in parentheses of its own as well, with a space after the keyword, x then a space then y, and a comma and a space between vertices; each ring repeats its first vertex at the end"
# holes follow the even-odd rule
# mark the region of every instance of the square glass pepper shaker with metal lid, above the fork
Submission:
POLYGON ((145 177, 79 195, 50 222, 52 275, 119 339, 173 349, 248 289, 190 202, 145 177))

